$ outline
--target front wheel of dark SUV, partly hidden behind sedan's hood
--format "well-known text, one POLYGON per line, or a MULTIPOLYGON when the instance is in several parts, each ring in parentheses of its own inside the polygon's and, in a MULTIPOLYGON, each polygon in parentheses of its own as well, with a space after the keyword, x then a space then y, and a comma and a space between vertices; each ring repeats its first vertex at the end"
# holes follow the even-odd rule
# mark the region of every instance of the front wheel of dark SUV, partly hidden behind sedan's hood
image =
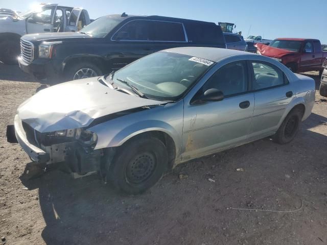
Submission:
POLYGON ((90 62, 80 62, 74 64, 65 72, 65 77, 67 81, 83 79, 83 78, 92 78, 102 75, 101 69, 90 62))

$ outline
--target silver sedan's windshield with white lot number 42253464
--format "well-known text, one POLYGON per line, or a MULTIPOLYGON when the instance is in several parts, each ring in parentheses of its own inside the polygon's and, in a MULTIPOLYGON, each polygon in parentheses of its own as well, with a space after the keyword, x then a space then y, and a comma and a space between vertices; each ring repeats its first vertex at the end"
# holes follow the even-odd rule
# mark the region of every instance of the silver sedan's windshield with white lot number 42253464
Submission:
POLYGON ((198 57, 161 51, 116 71, 112 80, 126 89, 130 86, 123 81, 131 84, 149 99, 177 101, 213 64, 198 57))

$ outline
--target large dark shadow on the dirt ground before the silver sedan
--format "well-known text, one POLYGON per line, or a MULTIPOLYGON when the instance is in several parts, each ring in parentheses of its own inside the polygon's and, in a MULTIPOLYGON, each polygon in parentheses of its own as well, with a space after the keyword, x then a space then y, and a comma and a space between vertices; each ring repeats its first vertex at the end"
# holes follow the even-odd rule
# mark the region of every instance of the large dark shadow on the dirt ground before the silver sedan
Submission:
POLYGON ((323 244, 327 136, 309 130, 322 120, 312 114, 290 144, 263 139, 182 164, 135 197, 60 171, 24 184, 39 188, 46 244, 323 244), (294 213, 228 209, 294 210, 301 201, 294 213))

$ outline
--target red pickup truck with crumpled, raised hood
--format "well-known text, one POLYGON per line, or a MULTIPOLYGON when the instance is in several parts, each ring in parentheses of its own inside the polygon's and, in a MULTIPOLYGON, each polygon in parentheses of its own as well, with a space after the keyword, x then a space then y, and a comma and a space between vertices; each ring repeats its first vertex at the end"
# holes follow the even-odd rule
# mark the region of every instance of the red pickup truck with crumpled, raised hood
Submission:
POLYGON ((258 54, 274 58, 296 73, 319 70, 321 75, 322 62, 327 57, 317 39, 277 38, 269 45, 256 43, 255 46, 258 54))

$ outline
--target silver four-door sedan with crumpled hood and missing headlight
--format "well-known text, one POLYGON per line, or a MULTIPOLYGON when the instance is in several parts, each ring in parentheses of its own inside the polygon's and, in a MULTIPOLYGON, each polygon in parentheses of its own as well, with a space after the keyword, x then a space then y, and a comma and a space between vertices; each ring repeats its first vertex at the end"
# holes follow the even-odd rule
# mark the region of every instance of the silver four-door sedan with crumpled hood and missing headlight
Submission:
POLYGON ((314 80, 271 58, 181 47, 41 90, 14 129, 34 161, 140 193, 179 163, 267 136, 290 142, 314 101, 314 80))

